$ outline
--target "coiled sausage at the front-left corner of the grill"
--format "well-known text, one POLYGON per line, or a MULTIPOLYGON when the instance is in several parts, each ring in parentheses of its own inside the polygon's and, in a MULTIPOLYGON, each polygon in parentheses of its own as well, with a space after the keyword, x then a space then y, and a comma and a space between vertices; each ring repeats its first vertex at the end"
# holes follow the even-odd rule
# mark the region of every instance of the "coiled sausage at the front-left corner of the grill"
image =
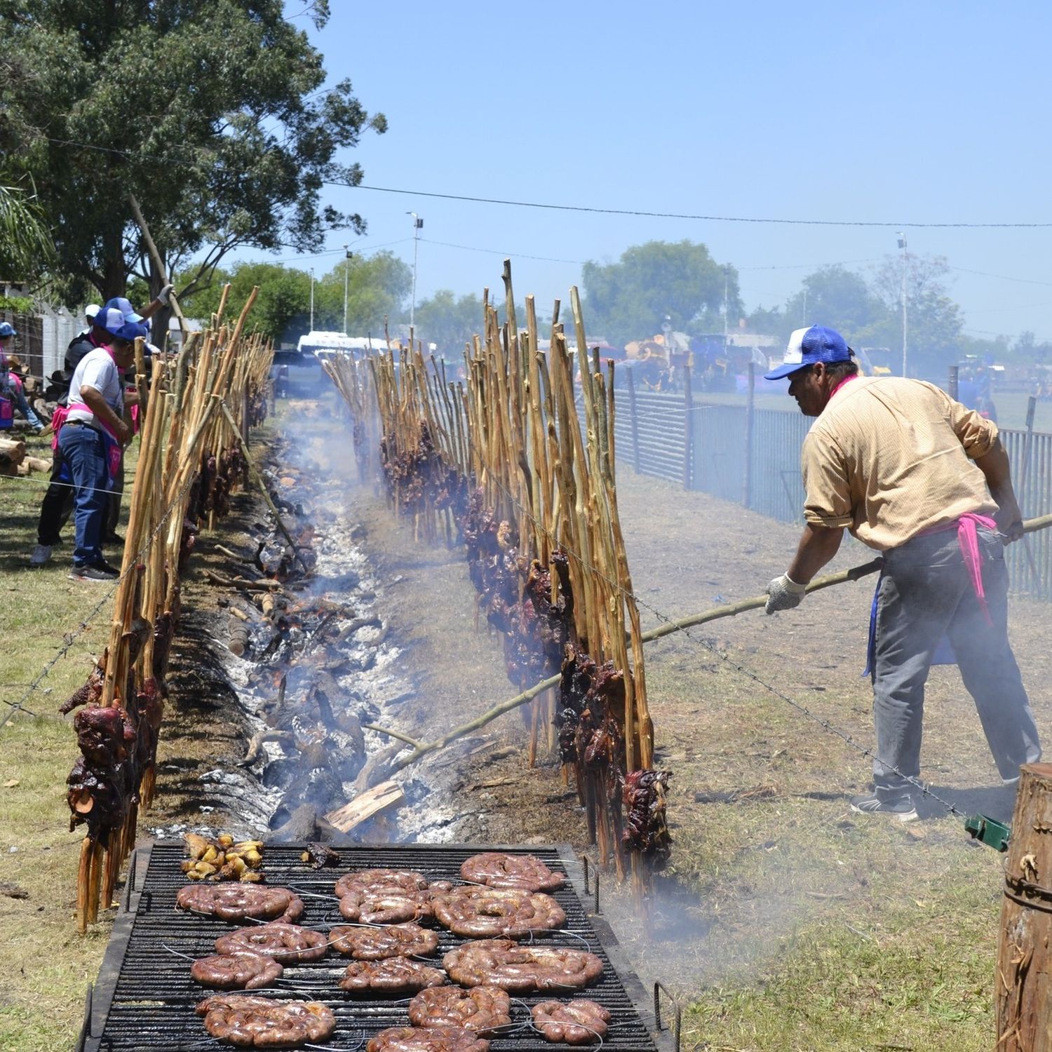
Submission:
POLYGON ((241 1048, 296 1048, 324 1041, 336 1016, 316 1000, 271 1000, 237 994, 207 997, 197 1007, 213 1037, 241 1048))

